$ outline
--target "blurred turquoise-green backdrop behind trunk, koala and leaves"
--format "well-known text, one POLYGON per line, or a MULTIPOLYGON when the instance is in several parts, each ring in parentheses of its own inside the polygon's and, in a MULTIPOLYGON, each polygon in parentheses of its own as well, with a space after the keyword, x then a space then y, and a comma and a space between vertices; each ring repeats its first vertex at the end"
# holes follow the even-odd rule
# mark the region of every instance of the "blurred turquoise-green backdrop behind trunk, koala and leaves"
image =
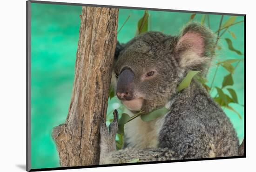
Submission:
MULTIPOLYGON (((32 3, 31 16, 31 161, 32 168, 59 167, 59 157, 51 138, 51 130, 65 122, 71 98, 74 63, 79 37, 81 7, 68 5, 50 5, 32 3)), ((135 36, 137 22, 143 16, 144 10, 120 9, 119 29, 130 15, 129 20, 118 33, 120 42, 127 42, 135 36)), ((149 11, 149 30, 160 31, 166 34, 178 34, 186 24, 191 13, 149 11)), ((201 21, 202 14, 196 14, 194 20, 201 21)), ((216 31, 219 27, 221 15, 209 15, 210 28, 216 31)), ((229 16, 224 16, 223 21, 229 16)), ((236 21, 243 20, 237 17, 236 21)), ((206 22, 207 24, 207 22, 206 22)), ((234 39, 229 32, 222 36, 222 49, 218 51, 219 60, 241 59, 243 55, 228 50, 223 40, 229 38, 236 49, 244 52, 243 23, 230 27, 236 34, 234 39)), ((244 62, 236 68, 233 75, 234 86, 238 101, 244 104, 244 62)), ((213 66, 208 75, 211 81, 216 66, 213 66)), ((228 72, 220 67, 216 74, 214 86, 221 87, 222 79, 228 72)), ((209 83, 208 83, 209 85, 209 83)), ((216 95, 216 91, 212 93, 216 95)), ((110 102, 108 109, 113 109, 115 99, 110 102)), ((242 116, 225 109, 231 119, 239 140, 243 140, 243 106, 230 105, 242 116)), ((109 110, 108 110, 109 111, 109 110)))

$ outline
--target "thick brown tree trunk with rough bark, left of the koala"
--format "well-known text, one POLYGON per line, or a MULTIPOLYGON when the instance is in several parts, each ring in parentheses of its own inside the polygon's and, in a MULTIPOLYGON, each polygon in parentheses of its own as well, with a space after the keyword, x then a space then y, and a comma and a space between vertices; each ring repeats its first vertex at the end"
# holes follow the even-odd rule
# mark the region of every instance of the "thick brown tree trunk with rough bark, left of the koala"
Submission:
POLYGON ((99 125, 106 118, 117 22, 117 8, 82 7, 68 115, 52 131, 61 166, 99 164, 99 125))

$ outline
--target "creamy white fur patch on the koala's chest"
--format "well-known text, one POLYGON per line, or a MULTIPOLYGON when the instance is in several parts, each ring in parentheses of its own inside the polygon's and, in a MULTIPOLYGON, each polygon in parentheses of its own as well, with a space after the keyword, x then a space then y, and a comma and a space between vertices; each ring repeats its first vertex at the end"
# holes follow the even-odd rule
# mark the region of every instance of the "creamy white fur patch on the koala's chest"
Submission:
POLYGON ((164 117, 144 122, 140 117, 133 119, 124 126, 128 147, 145 149, 158 146, 158 136, 162 129, 164 117))

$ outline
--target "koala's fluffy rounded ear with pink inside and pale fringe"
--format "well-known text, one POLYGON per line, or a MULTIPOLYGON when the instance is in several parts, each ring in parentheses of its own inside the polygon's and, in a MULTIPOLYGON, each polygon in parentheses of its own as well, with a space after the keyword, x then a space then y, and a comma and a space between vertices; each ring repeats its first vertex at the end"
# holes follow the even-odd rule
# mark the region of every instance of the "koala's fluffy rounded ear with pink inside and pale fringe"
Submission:
POLYGON ((186 26, 175 46, 175 57, 181 67, 203 70, 209 67, 214 56, 214 34, 199 23, 190 23, 186 26))

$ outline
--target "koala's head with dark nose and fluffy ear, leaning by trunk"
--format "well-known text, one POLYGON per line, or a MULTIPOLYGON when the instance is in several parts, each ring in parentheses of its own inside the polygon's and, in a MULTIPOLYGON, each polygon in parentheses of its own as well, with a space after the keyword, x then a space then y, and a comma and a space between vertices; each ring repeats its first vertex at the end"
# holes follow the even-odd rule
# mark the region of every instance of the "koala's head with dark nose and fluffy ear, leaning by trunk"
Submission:
POLYGON ((189 70, 205 75, 214 55, 214 35, 191 23, 178 36, 140 34, 116 45, 116 95, 131 111, 151 112, 164 106, 189 70))

